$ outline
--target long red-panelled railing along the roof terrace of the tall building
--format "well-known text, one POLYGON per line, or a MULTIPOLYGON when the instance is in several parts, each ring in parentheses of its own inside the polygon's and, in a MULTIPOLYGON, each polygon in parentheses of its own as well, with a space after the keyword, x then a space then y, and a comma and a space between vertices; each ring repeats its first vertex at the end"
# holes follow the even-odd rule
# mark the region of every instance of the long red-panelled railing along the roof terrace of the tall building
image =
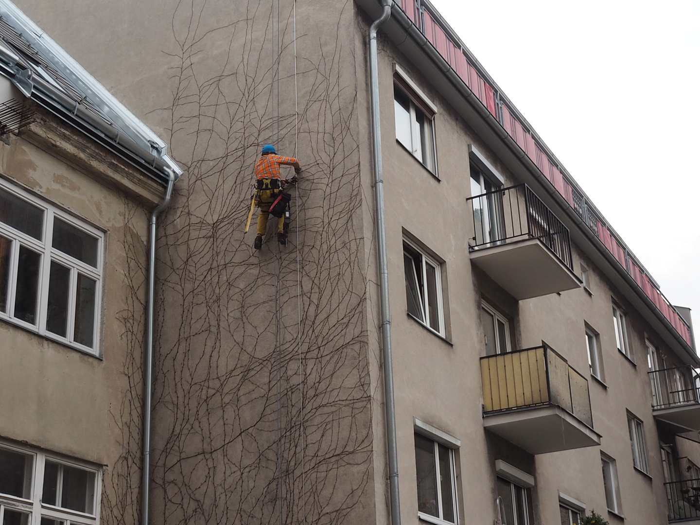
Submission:
POLYGON ((532 129, 524 116, 500 90, 489 73, 466 48, 428 0, 394 0, 407 18, 426 36, 451 69, 463 80, 503 130, 520 146, 540 172, 547 177, 575 213, 632 276, 639 288, 673 326, 687 344, 692 344, 690 326, 666 299, 649 272, 636 260, 617 232, 605 221, 593 203, 580 190, 573 177, 532 129))

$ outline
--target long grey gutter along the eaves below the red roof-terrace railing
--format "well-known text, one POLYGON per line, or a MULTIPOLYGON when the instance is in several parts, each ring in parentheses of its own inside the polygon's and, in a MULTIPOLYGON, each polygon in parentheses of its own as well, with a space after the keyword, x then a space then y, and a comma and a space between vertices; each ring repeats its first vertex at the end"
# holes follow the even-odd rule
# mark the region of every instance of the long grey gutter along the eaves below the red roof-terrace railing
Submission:
MULTIPOLYGON (((372 15, 372 12, 376 10, 377 8, 377 0, 356 0, 356 3, 360 4, 365 10, 367 10, 367 13, 372 15)), ((403 10, 398 6, 396 3, 393 3, 392 7, 392 20, 395 22, 395 26, 398 26, 402 33, 405 35, 403 39, 397 38, 395 39, 396 45, 402 46, 406 43, 408 38, 411 38, 414 43, 423 51, 423 53, 430 59, 430 62, 433 62, 433 65, 439 69, 444 76, 449 80, 449 83, 454 89, 458 92, 458 94, 461 94, 461 96, 470 104, 471 108, 479 115, 482 117, 486 125, 488 125, 489 129, 491 132, 496 134, 496 137, 498 137, 503 143, 505 143, 505 146, 510 150, 511 153, 514 154, 514 156, 521 162, 522 165, 526 168, 527 172, 533 176, 535 181, 537 181, 540 185, 540 187, 547 192, 549 197, 556 202, 556 204, 561 208, 564 214, 568 217, 568 219, 573 222, 577 226, 577 230, 579 230, 584 237, 596 248, 596 250, 600 253, 600 255, 603 255, 603 258, 607 262, 612 265, 612 269, 616 270, 616 274, 619 276, 622 276, 622 279, 624 282, 631 287, 633 293, 643 302, 643 304, 650 309, 652 315, 654 318, 656 318, 663 328, 668 332, 669 335, 671 335, 671 339, 675 343, 680 346, 680 349, 685 352, 685 356, 692 361, 692 363, 695 363, 696 365, 700 365, 700 357, 697 355, 697 353, 694 351, 692 346, 690 346, 685 339, 682 339, 680 334, 678 333, 675 328, 673 328, 673 325, 666 319, 664 314, 661 313, 661 311, 657 308, 657 306, 652 302, 650 297, 644 293, 644 290, 640 288, 640 286, 634 281, 633 277, 622 267, 622 265, 619 264, 617 259, 615 259, 614 255, 608 251, 607 248, 605 248, 605 245, 601 241, 601 239, 598 239, 598 237, 594 234, 594 232, 588 227, 587 224, 582 221, 582 218, 580 218, 574 209, 570 207, 568 202, 564 199, 563 195, 561 195, 556 188, 554 188, 554 185, 547 180, 547 178, 540 172, 540 169, 535 165, 535 163, 526 155, 524 151, 520 148, 520 146, 515 142, 512 137, 510 137, 509 134, 503 129, 503 126, 500 125, 498 120, 491 115, 488 109, 486 109, 486 106, 482 104, 482 102, 479 100, 479 98, 470 90, 468 85, 464 83, 464 81, 457 75, 456 71, 454 71, 451 66, 447 63, 447 61, 440 55, 439 52, 433 47, 433 45, 428 41, 426 36, 414 25, 412 20, 410 20, 407 15, 403 12, 403 10)), ((390 29, 386 30, 387 32, 391 32, 390 29)), ((597 210, 596 210, 597 212, 597 210)), ((602 215, 601 215, 602 216, 602 215)))

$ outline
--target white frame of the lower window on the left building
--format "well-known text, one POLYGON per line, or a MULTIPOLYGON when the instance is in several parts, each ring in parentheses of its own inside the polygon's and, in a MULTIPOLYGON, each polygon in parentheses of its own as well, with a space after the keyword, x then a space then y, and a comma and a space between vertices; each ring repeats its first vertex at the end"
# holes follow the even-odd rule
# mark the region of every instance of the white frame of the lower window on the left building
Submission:
POLYGON ((94 465, 68 459, 59 454, 52 454, 43 449, 20 447, 17 444, 0 441, 0 448, 24 454, 31 457, 31 488, 29 498, 18 498, 9 494, 0 493, 0 524, 2 523, 5 509, 16 510, 29 514, 29 525, 40 525, 41 518, 57 519, 63 525, 99 525, 100 502, 102 500, 102 470, 94 465), (46 461, 66 465, 81 470, 89 470, 94 473, 94 513, 78 512, 55 505, 47 505, 41 502, 43 496, 44 465, 46 461))

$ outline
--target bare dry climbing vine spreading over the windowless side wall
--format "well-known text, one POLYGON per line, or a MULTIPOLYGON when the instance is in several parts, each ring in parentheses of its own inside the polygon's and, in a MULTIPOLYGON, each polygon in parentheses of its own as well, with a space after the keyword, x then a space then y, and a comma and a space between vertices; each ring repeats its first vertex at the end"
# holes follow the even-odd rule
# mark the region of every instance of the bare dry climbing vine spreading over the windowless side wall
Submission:
MULTIPOLYGON (((160 110, 185 173, 158 249, 152 520, 357 523, 373 511, 357 505, 372 443, 353 4, 335 6, 323 31, 300 24, 304 172, 290 244, 268 235, 259 253, 243 235, 253 163, 262 144, 293 155, 296 142, 293 4, 222 6, 179 4, 172 105, 160 110)), ((132 258, 136 297, 143 258, 132 258)), ((138 356, 143 325, 125 327, 138 356)), ((128 424, 106 474, 107 524, 137 519, 123 509, 138 490, 140 362, 125 373, 135 394, 113 413, 128 424)))

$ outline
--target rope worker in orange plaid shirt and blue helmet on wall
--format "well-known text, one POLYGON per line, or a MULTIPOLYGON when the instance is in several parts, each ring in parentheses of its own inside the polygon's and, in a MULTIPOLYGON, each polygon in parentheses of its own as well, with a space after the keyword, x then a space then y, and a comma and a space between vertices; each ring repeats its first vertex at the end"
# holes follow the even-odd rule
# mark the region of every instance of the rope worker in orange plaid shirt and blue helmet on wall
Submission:
MULTIPOLYGON (((288 204, 290 196, 283 192, 286 184, 295 184, 297 175, 302 171, 299 161, 292 157, 277 155, 272 144, 262 146, 262 156, 255 162, 255 195, 254 204, 260 208, 258 216, 258 235, 255 237, 253 248, 262 248, 262 236, 267 230, 267 218, 272 213, 279 217, 277 221, 277 240, 279 244, 287 244, 288 228, 288 204), (283 180, 279 174, 281 165, 294 167, 295 176, 289 180, 283 180)), ((252 213, 251 206, 251 213, 252 213)), ((250 221, 250 216, 248 216, 250 221)), ((246 230, 247 231, 247 230, 246 230)))

